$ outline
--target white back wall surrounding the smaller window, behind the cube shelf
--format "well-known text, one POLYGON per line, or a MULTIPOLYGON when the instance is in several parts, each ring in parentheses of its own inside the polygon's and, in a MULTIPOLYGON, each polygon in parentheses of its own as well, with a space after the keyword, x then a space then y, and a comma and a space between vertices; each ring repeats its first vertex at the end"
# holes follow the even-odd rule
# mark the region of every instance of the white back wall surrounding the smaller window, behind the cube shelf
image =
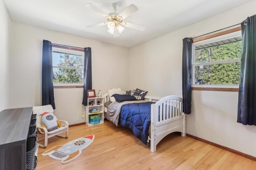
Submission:
MULTIPOLYGON (((91 39, 13 22, 10 51, 10 102, 8 108, 42 104, 42 42, 92 48, 92 88, 106 93, 113 87, 128 88, 128 49, 91 39), (114 75, 114 76, 113 76, 114 75)), ((58 119, 69 124, 85 122, 81 114, 83 88, 54 89, 58 119)))

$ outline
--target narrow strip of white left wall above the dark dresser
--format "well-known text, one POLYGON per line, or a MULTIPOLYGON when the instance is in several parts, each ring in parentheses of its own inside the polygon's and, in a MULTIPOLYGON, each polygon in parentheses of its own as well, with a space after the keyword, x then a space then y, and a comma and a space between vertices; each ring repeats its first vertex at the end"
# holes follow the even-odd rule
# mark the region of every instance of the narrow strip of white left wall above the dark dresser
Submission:
POLYGON ((2 111, 8 104, 8 55, 12 23, 2 0, 0 0, 0 20, 0 111, 2 111))

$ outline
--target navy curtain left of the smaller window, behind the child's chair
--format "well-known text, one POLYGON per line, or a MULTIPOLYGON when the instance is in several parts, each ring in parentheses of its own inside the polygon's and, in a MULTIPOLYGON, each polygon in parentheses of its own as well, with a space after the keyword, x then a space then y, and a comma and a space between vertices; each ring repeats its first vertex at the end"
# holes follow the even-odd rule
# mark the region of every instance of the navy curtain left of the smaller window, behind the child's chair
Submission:
POLYGON ((52 105, 55 109, 53 93, 52 43, 43 40, 42 56, 42 106, 52 105))

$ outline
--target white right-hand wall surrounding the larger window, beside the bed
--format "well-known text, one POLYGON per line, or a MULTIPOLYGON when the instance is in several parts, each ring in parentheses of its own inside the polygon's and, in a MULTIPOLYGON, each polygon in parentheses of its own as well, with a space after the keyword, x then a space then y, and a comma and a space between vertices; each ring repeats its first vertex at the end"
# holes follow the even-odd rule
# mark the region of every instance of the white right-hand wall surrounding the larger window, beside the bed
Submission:
MULTIPOLYGON (((255 6, 256 0, 131 48, 129 89, 182 96, 182 39, 240 23, 255 6)), ((187 133, 256 156, 256 127, 236 123, 237 104, 238 92, 192 91, 187 133)))

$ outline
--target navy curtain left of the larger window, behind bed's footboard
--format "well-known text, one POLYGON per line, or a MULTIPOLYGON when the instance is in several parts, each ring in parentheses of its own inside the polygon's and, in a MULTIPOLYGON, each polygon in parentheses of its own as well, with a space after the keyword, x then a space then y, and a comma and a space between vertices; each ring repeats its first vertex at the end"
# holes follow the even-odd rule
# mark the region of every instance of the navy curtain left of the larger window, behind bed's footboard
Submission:
POLYGON ((182 50, 182 98, 183 112, 191 113, 191 60, 192 60, 192 38, 183 39, 182 50))

